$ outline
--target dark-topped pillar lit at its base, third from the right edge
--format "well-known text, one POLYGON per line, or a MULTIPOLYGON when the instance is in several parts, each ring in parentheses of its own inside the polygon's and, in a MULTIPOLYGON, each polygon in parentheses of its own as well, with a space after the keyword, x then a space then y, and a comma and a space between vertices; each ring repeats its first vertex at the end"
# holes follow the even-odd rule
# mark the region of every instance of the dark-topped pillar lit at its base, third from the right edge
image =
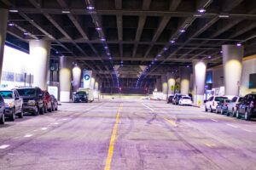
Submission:
POLYGON ((181 94, 189 94, 189 80, 191 69, 187 67, 179 68, 180 74, 180 92, 181 94))

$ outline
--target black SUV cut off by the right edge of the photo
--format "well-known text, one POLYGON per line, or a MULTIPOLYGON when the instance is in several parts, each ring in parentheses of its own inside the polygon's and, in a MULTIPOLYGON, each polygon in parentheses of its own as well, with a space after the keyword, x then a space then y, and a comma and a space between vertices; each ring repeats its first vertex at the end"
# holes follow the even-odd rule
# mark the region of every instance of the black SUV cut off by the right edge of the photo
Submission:
POLYGON ((247 94, 237 105, 236 118, 241 116, 244 116, 247 121, 256 117, 256 94, 247 94))

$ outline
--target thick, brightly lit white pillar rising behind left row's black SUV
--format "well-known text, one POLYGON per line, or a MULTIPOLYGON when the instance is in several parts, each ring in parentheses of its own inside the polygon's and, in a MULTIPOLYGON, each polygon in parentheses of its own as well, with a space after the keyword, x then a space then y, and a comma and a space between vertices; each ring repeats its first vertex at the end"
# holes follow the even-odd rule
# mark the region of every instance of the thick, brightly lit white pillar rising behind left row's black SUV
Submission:
POLYGON ((29 41, 29 52, 32 65, 30 71, 34 76, 33 85, 43 90, 47 88, 49 71, 50 42, 44 40, 29 41))

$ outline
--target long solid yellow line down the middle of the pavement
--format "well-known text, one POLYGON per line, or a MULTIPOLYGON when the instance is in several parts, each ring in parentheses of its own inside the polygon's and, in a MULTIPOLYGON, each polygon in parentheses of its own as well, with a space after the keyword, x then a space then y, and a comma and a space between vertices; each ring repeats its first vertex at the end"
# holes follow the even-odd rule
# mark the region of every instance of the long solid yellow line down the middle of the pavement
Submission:
POLYGON ((122 109, 123 109, 123 104, 120 104, 119 112, 115 118, 115 123, 113 125, 113 131, 112 131, 112 135, 111 135, 111 139, 110 139, 109 147, 108 147, 108 157, 106 160, 106 165, 105 165, 104 170, 110 170, 110 167, 111 167, 111 161, 112 161, 113 149, 114 149, 114 141, 116 138, 117 127, 118 127, 118 123, 119 123, 119 115, 120 115, 120 111, 122 111, 122 109))

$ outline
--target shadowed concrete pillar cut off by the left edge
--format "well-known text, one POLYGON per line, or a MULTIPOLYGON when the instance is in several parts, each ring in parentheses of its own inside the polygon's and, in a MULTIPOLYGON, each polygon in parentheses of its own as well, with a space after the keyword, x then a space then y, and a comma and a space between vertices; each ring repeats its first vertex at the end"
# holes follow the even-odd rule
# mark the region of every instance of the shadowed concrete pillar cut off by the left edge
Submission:
POLYGON ((3 49, 6 38, 7 31, 7 22, 8 22, 9 11, 5 8, 0 8, 0 81, 2 77, 2 68, 3 68, 3 49))

